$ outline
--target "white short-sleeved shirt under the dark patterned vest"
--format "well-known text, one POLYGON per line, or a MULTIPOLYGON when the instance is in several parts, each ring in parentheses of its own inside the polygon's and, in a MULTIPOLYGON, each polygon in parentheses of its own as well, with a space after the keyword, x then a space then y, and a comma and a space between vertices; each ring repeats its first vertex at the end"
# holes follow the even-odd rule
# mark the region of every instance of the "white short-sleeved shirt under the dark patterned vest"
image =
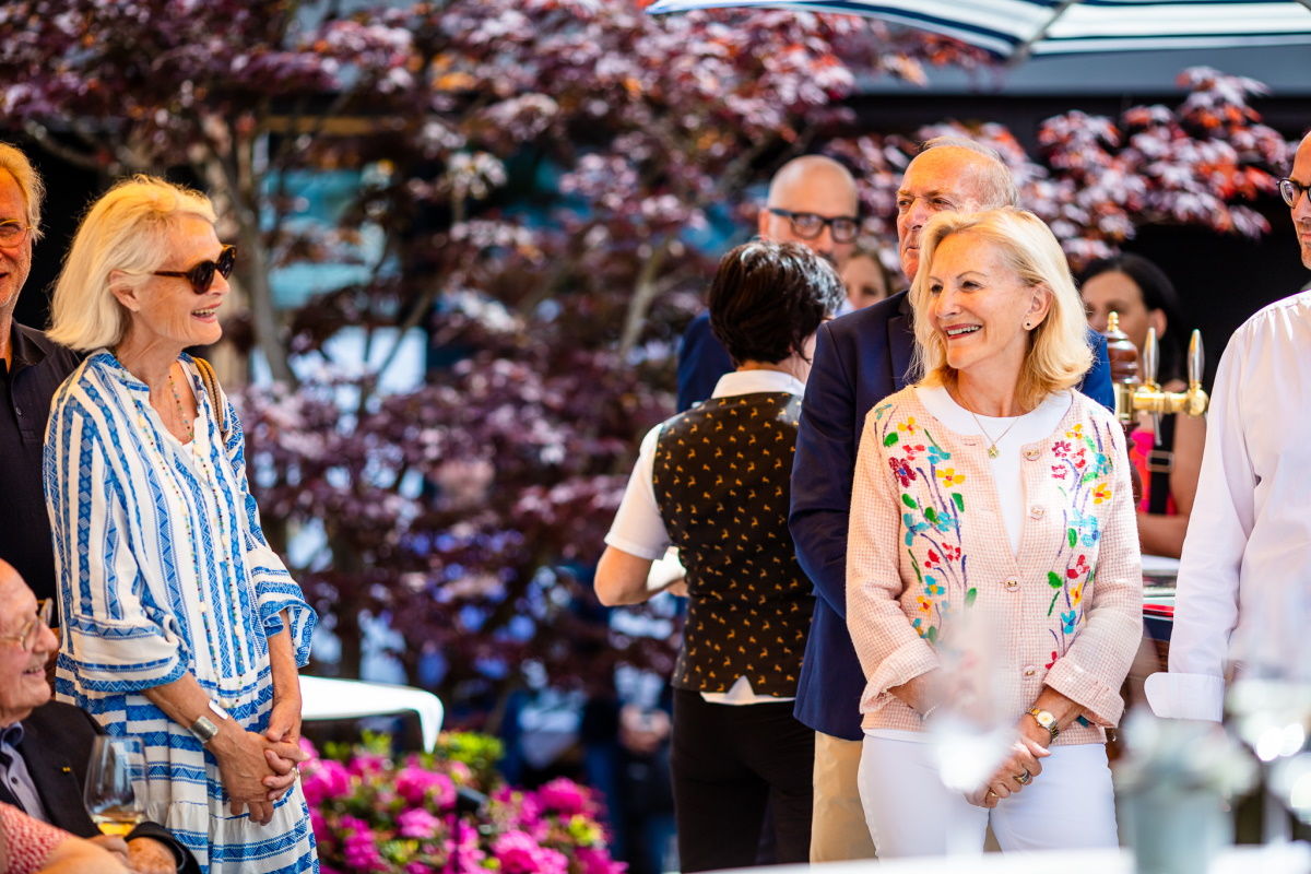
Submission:
MULTIPOLYGON (((762 392, 788 392, 801 396, 805 383, 781 371, 733 371, 720 377, 711 397, 733 397, 735 394, 759 394, 762 392)), ((656 444, 665 428, 661 422, 642 438, 637 451, 637 464, 628 478, 628 489, 619 504, 615 520, 610 524, 606 544, 638 558, 657 560, 669 546, 669 532, 656 503, 656 444)), ((701 697, 712 704, 777 704, 792 698, 776 698, 756 694, 751 681, 739 676, 728 692, 701 692, 701 697)))

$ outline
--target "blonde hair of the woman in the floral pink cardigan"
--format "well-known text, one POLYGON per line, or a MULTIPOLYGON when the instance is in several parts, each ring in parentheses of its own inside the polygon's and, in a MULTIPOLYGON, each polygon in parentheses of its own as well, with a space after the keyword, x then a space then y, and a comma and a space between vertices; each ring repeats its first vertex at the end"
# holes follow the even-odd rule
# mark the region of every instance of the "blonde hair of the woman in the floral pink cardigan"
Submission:
POLYGON ((1092 367, 1088 324, 1079 291, 1051 229, 1038 216, 1016 207, 974 214, 939 212, 924 225, 919 273, 910 287, 910 301, 915 308, 915 364, 920 381, 926 385, 956 385, 957 372, 947 363, 947 343, 929 320, 928 307, 933 256, 947 237, 958 233, 991 242, 1021 282, 1029 287, 1045 286, 1051 295, 1046 318, 1029 332, 1016 384, 1020 406, 1032 409, 1050 392, 1078 385, 1092 367))

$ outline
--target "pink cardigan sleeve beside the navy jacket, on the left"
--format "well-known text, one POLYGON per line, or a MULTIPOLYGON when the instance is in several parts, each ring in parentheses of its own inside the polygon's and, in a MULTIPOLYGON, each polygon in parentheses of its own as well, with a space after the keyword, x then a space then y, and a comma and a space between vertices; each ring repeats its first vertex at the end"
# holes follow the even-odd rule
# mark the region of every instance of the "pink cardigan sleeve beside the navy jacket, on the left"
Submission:
POLYGON ((860 439, 847 549, 847 630, 865 672, 863 712, 871 698, 871 709, 881 709, 893 700, 888 689, 939 666, 933 647, 911 626, 901 604, 901 504, 874 417, 869 414, 860 439))

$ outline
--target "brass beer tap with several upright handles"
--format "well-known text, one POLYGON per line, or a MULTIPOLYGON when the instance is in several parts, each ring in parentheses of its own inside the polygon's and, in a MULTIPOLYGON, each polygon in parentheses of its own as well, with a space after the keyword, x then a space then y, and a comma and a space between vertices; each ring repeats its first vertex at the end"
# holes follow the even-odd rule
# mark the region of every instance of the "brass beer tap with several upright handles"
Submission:
POLYGON ((1143 379, 1138 377, 1138 350, 1120 330, 1120 313, 1106 317, 1106 352, 1110 356, 1112 387, 1116 393, 1116 418, 1125 426, 1138 413, 1151 413, 1155 434, 1160 434, 1160 417, 1173 413, 1202 415, 1209 398, 1202 390, 1202 333, 1193 332, 1188 341, 1188 390, 1165 392, 1156 383, 1156 329, 1147 329, 1143 343, 1143 379))

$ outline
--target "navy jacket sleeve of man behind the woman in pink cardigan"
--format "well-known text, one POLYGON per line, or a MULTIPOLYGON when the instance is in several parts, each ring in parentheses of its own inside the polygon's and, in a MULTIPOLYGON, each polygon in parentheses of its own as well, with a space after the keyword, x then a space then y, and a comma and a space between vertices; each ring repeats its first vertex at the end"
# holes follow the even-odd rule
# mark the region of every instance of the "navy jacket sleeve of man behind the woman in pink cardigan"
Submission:
POLYGON ((788 528, 815 594, 847 617, 847 518, 856 465, 856 387, 827 324, 819 328, 792 461, 788 528))

